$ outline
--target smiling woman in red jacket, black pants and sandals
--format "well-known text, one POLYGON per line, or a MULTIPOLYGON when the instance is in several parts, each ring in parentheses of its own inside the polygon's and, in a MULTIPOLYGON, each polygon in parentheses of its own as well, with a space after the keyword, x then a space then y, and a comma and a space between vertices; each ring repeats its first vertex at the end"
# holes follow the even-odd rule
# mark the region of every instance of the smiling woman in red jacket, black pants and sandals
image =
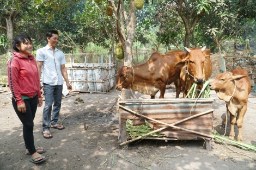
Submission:
POLYGON ((13 41, 13 58, 8 61, 8 83, 13 94, 13 107, 23 124, 25 155, 29 161, 39 163, 46 160, 40 155, 45 152, 42 147, 34 146, 34 117, 36 106, 42 106, 38 68, 32 52, 32 41, 27 35, 17 35, 13 41))

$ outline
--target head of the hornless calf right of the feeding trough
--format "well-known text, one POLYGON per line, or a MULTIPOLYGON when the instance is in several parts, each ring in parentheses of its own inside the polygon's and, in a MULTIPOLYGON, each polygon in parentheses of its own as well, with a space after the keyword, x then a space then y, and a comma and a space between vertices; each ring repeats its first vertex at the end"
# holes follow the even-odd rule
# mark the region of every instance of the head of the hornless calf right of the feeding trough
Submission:
POLYGON ((210 83, 210 89, 215 90, 218 98, 229 102, 235 88, 235 81, 247 75, 233 75, 231 72, 218 74, 216 79, 210 83))

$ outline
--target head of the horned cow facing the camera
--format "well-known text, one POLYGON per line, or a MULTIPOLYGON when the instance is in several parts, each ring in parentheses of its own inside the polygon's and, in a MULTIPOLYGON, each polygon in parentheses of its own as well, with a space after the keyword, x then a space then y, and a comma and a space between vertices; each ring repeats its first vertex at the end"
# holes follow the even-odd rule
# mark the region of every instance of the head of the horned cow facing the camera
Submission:
POLYGON ((205 73, 204 73, 204 61, 210 55, 204 53, 206 47, 203 48, 186 48, 188 55, 185 59, 177 62, 174 68, 183 67, 187 65, 187 71, 193 77, 195 83, 203 84, 205 81, 205 73))

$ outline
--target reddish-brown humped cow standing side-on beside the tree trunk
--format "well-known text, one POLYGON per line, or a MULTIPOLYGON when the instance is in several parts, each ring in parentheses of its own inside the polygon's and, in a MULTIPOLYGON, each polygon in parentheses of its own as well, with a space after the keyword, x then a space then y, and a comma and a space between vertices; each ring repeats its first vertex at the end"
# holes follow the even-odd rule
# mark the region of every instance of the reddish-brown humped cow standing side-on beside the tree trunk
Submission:
POLYGON ((179 98, 181 91, 180 69, 174 65, 184 59, 186 53, 181 50, 169 51, 165 55, 153 53, 144 64, 127 67, 123 66, 118 71, 117 90, 133 89, 145 95, 155 98, 160 90, 160 98, 163 98, 166 85, 174 82, 176 86, 176 98, 179 98))

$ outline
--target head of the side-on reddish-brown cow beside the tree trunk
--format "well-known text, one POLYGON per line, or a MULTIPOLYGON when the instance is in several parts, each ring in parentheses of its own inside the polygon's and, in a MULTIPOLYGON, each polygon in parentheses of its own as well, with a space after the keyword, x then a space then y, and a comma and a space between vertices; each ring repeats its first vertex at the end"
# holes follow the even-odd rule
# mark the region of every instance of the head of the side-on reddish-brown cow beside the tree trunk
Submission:
POLYGON ((117 84, 115 85, 116 90, 130 89, 132 85, 131 67, 123 66, 118 71, 117 84))

